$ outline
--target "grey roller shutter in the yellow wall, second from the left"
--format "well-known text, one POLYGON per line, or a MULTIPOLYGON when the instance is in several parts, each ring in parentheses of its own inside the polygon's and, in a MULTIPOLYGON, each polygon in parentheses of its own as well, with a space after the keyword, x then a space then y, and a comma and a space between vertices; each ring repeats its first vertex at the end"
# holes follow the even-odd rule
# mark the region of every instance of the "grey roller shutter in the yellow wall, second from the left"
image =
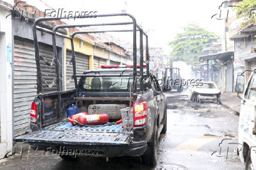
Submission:
MULTIPOLYGON (((72 55, 70 51, 66 52, 66 90, 75 89, 73 76, 73 64, 70 62, 72 55)), ((76 74, 82 74, 86 70, 89 70, 89 56, 76 53, 76 74)), ((78 78, 79 81, 79 78, 78 78)))

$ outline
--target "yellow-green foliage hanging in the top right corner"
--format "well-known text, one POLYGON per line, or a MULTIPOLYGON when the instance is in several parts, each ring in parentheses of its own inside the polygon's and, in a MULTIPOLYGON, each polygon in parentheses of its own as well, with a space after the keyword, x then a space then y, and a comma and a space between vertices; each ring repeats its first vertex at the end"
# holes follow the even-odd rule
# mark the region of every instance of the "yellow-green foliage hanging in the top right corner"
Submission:
POLYGON ((237 18, 244 18, 245 22, 242 23, 242 28, 247 26, 250 23, 256 22, 256 1, 255 0, 244 0, 238 2, 237 7, 234 9, 237 11, 237 18), (254 10, 252 10, 254 9, 254 10), (251 16, 250 16, 251 11, 251 16))

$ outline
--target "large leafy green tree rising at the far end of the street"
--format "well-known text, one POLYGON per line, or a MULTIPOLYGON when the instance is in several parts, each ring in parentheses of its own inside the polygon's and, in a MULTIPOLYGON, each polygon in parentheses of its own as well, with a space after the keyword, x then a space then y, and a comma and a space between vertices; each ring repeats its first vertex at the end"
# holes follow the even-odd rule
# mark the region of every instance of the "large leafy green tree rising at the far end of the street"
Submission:
POLYGON ((196 23, 188 23, 183 32, 177 33, 175 39, 169 43, 173 48, 171 62, 180 60, 187 64, 197 64, 198 56, 203 55, 203 47, 217 40, 218 37, 213 32, 200 28, 196 23))

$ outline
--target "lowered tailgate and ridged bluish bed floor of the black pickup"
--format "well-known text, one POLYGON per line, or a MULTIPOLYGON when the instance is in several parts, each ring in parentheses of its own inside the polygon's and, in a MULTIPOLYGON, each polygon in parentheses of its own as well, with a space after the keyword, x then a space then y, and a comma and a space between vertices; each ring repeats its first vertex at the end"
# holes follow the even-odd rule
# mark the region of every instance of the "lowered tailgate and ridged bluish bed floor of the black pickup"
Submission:
POLYGON ((129 145, 129 132, 121 125, 78 127, 70 123, 51 125, 39 131, 15 137, 18 142, 66 145, 129 145))

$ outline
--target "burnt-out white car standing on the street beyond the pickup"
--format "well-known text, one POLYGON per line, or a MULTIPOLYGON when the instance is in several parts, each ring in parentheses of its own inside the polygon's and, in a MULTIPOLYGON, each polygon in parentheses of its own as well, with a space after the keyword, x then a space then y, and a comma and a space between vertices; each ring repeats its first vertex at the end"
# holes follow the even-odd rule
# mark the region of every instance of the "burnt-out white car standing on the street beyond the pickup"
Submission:
POLYGON ((191 86, 188 89, 188 99, 193 102, 213 101, 220 103, 221 91, 218 90, 213 81, 203 81, 197 86, 191 86))

